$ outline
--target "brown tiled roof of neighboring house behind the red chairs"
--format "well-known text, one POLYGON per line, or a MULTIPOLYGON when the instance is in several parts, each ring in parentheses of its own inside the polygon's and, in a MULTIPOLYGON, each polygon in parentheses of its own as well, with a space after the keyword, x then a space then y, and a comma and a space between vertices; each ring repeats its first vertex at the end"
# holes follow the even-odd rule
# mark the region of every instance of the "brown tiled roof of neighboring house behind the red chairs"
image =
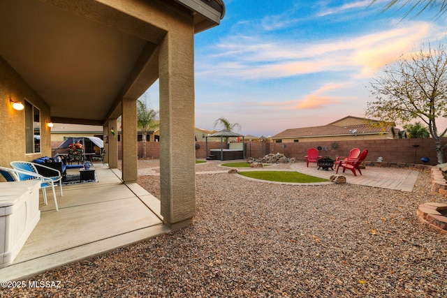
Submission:
MULTIPOLYGON (((350 116, 349 116, 350 117, 350 116)), ((285 131, 281 131, 277 135, 272 136, 273 140, 276 139, 287 139, 287 138, 299 138, 299 137, 328 137, 328 136, 342 136, 342 135, 377 135, 382 133, 391 133, 395 135, 395 128, 387 124, 386 126, 377 126, 373 124, 355 124, 346 126, 334 125, 343 119, 339 119, 331 124, 325 126, 311 126, 303 128, 289 128, 285 131)), ((358 117, 351 117, 354 120, 360 119, 362 121, 370 121, 372 123, 378 124, 380 121, 362 119, 358 117)))

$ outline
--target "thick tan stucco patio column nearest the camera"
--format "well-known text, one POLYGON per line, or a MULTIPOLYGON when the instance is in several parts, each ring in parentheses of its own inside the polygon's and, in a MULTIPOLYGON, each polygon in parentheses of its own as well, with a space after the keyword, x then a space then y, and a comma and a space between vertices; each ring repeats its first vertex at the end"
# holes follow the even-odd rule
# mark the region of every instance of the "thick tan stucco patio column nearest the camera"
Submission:
POLYGON ((159 45, 161 215, 172 230, 196 215, 193 26, 159 45))

